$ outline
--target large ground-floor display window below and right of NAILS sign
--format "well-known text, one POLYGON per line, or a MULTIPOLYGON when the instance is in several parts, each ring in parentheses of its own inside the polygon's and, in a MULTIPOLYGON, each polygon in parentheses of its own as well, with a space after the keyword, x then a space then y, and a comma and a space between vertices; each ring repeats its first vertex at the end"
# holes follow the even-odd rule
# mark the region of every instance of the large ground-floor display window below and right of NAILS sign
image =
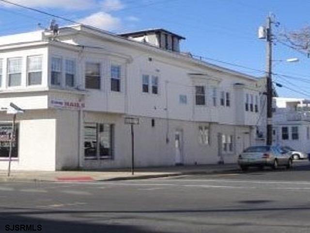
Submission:
POLYGON ((114 125, 84 123, 84 158, 113 159, 114 125))

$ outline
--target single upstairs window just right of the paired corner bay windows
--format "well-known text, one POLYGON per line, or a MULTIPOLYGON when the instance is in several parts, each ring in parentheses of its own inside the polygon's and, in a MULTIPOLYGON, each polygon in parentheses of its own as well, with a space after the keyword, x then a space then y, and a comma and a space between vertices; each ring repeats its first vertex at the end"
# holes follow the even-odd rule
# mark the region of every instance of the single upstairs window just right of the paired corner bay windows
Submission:
POLYGON ((100 63, 87 62, 85 65, 85 88, 100 89, 100 63))

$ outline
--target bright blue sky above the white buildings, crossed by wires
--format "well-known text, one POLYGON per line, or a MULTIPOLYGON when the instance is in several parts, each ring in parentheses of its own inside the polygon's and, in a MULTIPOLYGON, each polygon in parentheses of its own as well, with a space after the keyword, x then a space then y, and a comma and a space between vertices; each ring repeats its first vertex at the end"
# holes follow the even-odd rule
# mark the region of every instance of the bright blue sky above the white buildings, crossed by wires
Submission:
MULTIPOLYGON (((298 30, 310 24, 308 0, 11 0, 91 24, 111 32, 165 28, 186 37, 181 49, 259 70, 265 68, 265 42, 257 28, 269 12, 280 22, 276 32, 298 30)), ((0 5, 0 35, 44 27, 52 17, 29 10, 0 5)), ((60 25, 67 22, 58 20, 60 25)), ((274 79, 305 95, 277 88, 280 96, 310 98, 310 58, 281 44, 274 46, 274 59, 297 57, 298 63, 275 62, 274 72, 292 77, 274 79), (306 82, 301 81, 305 79, 306 82), (307 80, 309 79, 309 83, 307 80)), ((255 76, 262 72, 233 67, 255 76)))

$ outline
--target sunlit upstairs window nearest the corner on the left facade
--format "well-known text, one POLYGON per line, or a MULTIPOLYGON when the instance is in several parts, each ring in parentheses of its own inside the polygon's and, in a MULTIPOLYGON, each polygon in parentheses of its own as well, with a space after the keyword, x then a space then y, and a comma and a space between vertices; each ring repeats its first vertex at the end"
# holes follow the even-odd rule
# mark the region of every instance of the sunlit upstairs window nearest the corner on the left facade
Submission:
POLYGON ((28 85, 42 84, 42 55, 27 58, 28 85))

